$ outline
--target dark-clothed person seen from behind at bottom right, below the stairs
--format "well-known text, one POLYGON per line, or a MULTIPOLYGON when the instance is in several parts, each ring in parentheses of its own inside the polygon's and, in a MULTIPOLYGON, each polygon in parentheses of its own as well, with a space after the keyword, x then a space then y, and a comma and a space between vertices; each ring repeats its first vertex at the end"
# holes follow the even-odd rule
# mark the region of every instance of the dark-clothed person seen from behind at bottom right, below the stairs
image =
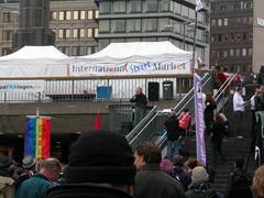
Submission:
POLYGON ((234 162, 234 168, 229 175, 227 198, 252 198, 251 177, 243 169, 243 158, 234 162))

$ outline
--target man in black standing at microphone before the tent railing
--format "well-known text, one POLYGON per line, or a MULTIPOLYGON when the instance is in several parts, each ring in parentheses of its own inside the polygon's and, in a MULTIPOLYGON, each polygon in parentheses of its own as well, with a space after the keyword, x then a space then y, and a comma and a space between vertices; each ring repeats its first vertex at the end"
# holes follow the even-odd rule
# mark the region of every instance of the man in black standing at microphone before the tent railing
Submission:
POLYGON ((135 95, 130 99, 130 102, 135 103, 134 125, 136 125, 144 118, 147 105, 146 96, 142 92, 141 87, 136 87, 135 95))

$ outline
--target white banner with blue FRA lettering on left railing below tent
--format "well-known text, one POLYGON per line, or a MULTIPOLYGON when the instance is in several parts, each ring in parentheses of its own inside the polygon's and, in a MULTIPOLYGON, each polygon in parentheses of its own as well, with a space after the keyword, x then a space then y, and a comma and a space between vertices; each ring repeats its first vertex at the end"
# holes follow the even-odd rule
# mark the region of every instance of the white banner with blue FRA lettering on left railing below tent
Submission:
POLYGON ((0 91, 4 92, 42 92, 44 80, 1 80, 0 91))

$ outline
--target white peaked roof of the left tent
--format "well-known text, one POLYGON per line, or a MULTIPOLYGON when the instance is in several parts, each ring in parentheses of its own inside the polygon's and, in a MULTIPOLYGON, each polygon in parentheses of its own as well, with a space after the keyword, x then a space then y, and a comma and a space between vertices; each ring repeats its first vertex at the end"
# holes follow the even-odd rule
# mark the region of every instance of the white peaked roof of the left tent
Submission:
POLYGON ((68 58, 67 55, 59 52, 54 46, 24 46, 21 50, 0 57, 0 61, 13 61, 13 59, 64 59, 68 58))

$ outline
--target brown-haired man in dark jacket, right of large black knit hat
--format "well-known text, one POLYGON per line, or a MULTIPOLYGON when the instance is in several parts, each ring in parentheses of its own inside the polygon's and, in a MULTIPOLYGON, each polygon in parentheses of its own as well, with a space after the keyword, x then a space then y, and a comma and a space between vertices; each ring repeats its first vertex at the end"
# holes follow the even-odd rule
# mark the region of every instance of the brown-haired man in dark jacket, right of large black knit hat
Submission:
POLYGON ((151 142, 140 144, 134 153, 135 198, 184 198, 184 189, 176 178, 161 170, 162 152, 151 142))

